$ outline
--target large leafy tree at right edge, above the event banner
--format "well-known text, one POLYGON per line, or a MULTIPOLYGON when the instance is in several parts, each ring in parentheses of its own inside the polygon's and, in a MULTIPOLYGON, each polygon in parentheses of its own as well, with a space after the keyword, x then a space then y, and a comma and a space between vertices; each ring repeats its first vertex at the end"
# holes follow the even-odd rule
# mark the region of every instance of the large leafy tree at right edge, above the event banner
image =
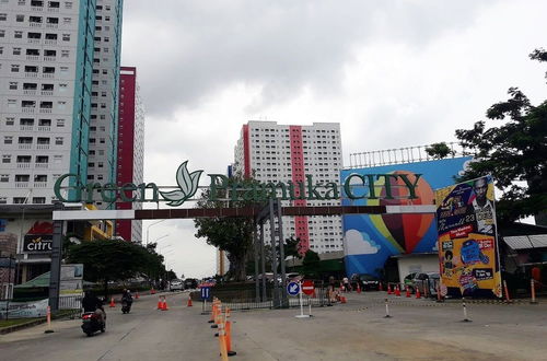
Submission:
MULTIPOLYGON (((529 58, 547 61, 547 51, 536 49, 529 58)), ((508 93, 507 101, 486 113, 489 120, 501 125, 487 128, 481 120, 473 129, 456 130, 461 144, 476 154, 476 162, 458 180, 492 174, 496 186, 503 190, 496 206, 501 223, 545 217, 547 209, 547 101, 534 106, 517 88, 508 93)))

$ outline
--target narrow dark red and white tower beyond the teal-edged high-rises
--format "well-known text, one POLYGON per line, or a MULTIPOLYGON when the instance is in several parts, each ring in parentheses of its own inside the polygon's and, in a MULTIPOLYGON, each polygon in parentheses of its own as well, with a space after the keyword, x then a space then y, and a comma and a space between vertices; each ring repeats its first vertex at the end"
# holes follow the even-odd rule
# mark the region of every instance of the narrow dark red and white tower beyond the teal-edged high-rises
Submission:
MULTIPOLYGON (((121 67, 119 84, 117 184, 141 184, 144 166, 144 109, 139 97, 137 69, 121 67)), ((116 209, 142 209, 141 202, 118 202, 116 209)), ((116 221, 116 234, 126 241, 142 241, 142 221, 116 221)))

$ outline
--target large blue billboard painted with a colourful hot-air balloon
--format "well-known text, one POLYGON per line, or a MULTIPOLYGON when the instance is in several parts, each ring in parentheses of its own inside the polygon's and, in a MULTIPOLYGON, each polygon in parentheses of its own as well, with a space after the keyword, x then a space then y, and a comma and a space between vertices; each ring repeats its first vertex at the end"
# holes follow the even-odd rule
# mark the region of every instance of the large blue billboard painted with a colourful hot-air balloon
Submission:
MULTIPOLYGON (((470 156, 407 164, 384 165, 368 168, 341 171, 344 183, 353 174, 366 178, 370 174, 392 174, 393 177, 374 179, 374 189, 380 197, 349 199, 342 194, 344 206, 401 206, 433 205, 433 189, 454 183, 454 177, 462 174, 470 156), (398 176, 397 176, 398 175, 398 176), (406 175, 400 177, 400 175, 406 175), (405 180, 416 184, 415 199, 408 199, 405 180), (389 187, 385 187, 389 182, 389 187), (385 197, 387 191, 392 197, 385 197), (387 199, 386 199, 387 198, 387 199), (389 199, 391 198, 391 199, 389 199)), ((356 193, 366 193, 363 186, 356 193)), ((387 258, 399 254, 437 253, 437 226, 434 214, 351 214, 344 216, 344 248, 346 272, 370 273, 380 276, 387 258)))

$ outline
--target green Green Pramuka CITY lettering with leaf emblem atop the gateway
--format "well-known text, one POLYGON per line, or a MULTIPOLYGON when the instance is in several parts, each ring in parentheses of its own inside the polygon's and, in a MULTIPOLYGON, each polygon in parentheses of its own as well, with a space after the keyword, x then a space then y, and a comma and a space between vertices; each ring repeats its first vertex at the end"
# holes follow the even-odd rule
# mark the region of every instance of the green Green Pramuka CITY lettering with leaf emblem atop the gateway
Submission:
MULTIPOLYGON (((82 184, 78 174, 61 175, 54 186, 57 199, 63 202, 93 202, 100 198, 105 202, 159 202, 166 201, 167 206, 177 207, 196 195, 199 178, 203 171, 188 172, 188 161, 182 163, 176 172, 175 190, 162 191, 155 183, 139 185, 126 183, 118 186, 114 183, 82 184), (62 186, 68 182, 68 186, 62 186), (68 190, 62 195, 61 190, 68 190), (161 198, 160 198, 161 197, 161 198)), ((208 174, 210 200, 247 200, 263 202, 269 199, 280 200, 335 200, 340 198, 341 187, 349 199, 393 199, 393 188, 399 187, 392 180, 403 180, 406 188, 406 198, 416 199, 416 188, 421 174, 351 174, 340 186, 337 183, 315 183, 313 176, 306 175, 303 182, 256 182, 245 187, 243 184, 229 183, 222 174, 208 174), (379 189, 380 188, 380 189, 379 189), (228 196, 224 196, 228 195, 228 196)), ((174 188, 174 187, 168 187, 174 188)))

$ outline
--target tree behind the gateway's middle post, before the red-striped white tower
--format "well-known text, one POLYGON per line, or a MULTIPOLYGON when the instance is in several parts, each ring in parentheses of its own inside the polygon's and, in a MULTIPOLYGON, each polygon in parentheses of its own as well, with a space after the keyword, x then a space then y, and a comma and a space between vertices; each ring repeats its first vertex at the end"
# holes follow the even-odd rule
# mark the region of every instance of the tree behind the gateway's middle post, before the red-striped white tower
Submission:
MULTIPOLYGON (((228 179, 228 188, 235 188, 232 186, 237 184, 242 189, 251 189, 253 183, 256 183, 256 180, 234 176, 228 179)), ((228 198, 226 196, 226 191, 221 189, 217 194, 217 199, 228 198)), ((248 200, 226 201, 211 200, 210 198, 210 189, 205 190, 202 199, 197 202, 197 207, 209 209, 224 208, 226 202, 230 207, 243 208, 255 206, 248 200)), ((242 199, 242 197, 238 197, 238 199, 242 199)), ((207 244, 226 252, 226 257, 230 260, 229 272, 234 279, 236 281, 245 280, 245 261, 247 260, 248 252, 253 249, 253 219, 243 217, 198 218, 194 220, 194 224, 198 230, 196 237, 205 237, 207 244)))

